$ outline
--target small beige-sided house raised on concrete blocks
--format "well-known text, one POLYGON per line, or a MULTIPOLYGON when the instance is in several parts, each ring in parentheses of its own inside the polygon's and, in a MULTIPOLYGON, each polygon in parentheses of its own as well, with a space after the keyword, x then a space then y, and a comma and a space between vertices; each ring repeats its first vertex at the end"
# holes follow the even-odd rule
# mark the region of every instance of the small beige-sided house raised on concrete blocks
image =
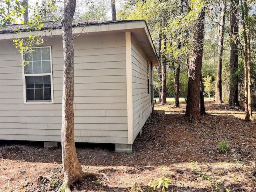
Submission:
MULTIPOLYGON (((131 152, 153 110, 153 66, 159 65, 146 22, 79 21, 73 36, 75 141, 131 152)), ((0 29, 0 140, 60 142, 62 88, 60 23, 46 22, 40 32, 0 29), (31 56, 15 48, 13 39, 38 33, 43 43, 31 56), (23 59, 29 64, 22 66, 23 59)))

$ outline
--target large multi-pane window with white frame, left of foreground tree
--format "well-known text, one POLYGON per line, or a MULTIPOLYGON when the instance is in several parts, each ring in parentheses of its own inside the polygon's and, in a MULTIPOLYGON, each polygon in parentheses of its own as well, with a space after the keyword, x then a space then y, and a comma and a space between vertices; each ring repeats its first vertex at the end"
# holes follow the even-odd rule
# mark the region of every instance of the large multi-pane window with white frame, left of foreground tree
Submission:
POLYGON ((24 102, 52 102, 51 47, 33 48, 24 54, 24 102))

